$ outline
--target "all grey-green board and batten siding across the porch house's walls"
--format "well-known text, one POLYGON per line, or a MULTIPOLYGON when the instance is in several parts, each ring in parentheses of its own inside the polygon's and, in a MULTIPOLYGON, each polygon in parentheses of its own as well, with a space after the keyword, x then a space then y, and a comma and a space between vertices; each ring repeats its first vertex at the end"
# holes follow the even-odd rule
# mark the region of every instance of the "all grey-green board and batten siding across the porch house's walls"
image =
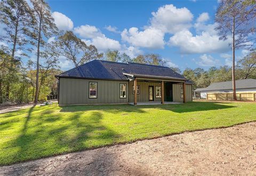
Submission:
MULTIPOLYGON (((133 81, 112 81, 103 79, 81 79, 81 78, 59 78, 59 105, 87 105, 87 104, 109 104, 109 103, 129 103, 134 101, 132 94, 133 81), (97 98, 89 98, 89 83, 97 82, 97 98), (126 98, 120 98, 120 84, 126 84, 126 98)), ((148 86, 154 86, 154 101, 161 101, 156 98, 156 86, 161 86, 154 82, 137 82, 140 86, 140 94, 137 94, 137 101, 149 101, 148 86)), ((180 95, 182 84, 173 84, 173 101, 183 102, 180 95)), ((186 84, 186 100, 192 101, 192 88, 186 84)))

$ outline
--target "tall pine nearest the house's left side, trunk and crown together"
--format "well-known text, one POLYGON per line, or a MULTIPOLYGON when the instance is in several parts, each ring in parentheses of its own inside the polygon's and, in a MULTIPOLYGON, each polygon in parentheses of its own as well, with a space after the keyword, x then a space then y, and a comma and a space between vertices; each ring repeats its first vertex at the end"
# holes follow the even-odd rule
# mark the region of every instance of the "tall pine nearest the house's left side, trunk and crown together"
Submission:
POLYGON ((36 61, 36 93, 35 102, 38 101, 39 95, 39 58, 40 47, 45 44, 44 38, 49 38, 53 34, 57 34, 57 27, 51 15, 50 6, 44 0, 31 0, 34 9, 35 25, 33 26, 33 38, 37 43, 37 61, 36 61))

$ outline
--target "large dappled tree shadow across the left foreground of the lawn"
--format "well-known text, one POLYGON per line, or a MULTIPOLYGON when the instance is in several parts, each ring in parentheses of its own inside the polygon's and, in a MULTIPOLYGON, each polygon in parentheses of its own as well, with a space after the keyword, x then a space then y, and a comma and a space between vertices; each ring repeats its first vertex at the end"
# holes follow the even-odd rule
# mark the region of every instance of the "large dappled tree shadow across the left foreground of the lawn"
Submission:
POLYGON ((47 116, 45 112, 37 116, 33 109, 29 109, 18 137, 3 144, 6 147, 0 165, 111 145, 120 137, 101 123, 103 115, 99 111, 77 111, 62 117, 62 113, 47 116))

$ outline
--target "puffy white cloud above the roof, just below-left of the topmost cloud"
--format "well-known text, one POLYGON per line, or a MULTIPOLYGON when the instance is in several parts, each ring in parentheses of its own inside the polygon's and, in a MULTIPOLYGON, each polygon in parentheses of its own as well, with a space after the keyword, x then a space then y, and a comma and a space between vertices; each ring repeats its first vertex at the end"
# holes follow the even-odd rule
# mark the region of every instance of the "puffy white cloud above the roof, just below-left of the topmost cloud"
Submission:
POLYGON ((123 41, 133 46, 163 49, 165 45, 164 33, 156 28, 149 27, 143 31, 139 31, 138 28, 132 27, 129 30, 124 29, 121 36, 123 41))

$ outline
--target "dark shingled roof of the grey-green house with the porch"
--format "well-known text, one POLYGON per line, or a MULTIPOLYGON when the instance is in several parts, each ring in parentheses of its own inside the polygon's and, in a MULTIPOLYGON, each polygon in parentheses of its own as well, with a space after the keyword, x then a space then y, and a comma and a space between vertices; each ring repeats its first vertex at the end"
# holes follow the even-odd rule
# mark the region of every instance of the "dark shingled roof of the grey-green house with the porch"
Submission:
POLYGON ((67 70, 56 77, 77 77, 127 80, 124 74, 146 75, 155 77, 168 77, 173 79, 186 80, 185 77, 173 71, 169 67, 154 66, 141 63, 121 63, 103 60, 93 60, 79 67, 67 70))

